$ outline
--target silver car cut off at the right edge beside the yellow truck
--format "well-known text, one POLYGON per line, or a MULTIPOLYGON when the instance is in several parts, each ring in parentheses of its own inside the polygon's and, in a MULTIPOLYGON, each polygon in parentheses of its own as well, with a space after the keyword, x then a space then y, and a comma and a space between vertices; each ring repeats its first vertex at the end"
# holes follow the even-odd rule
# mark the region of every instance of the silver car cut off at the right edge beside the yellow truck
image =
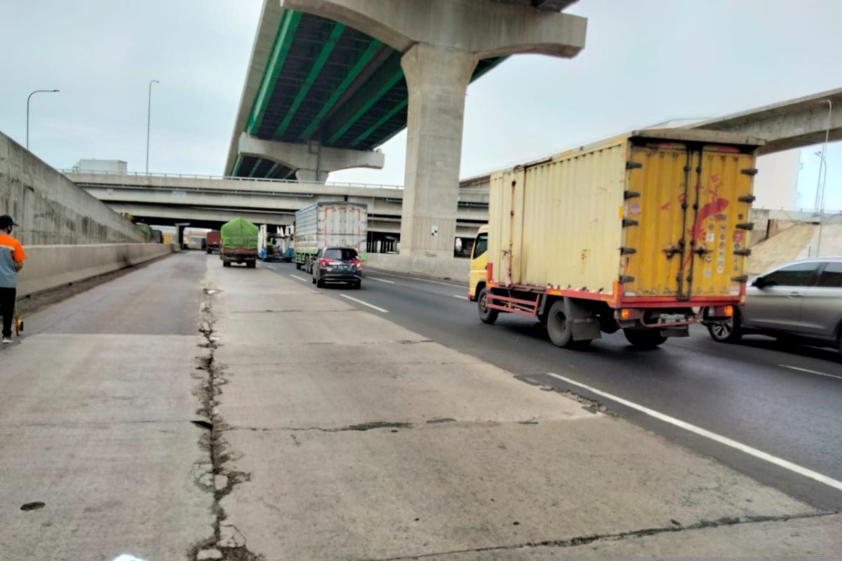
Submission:
POLYGON ((707 326, 714 341, 761 333, 842 353, 842 257, 787 263, 754 278, 745 296, 732 320, 707 326))

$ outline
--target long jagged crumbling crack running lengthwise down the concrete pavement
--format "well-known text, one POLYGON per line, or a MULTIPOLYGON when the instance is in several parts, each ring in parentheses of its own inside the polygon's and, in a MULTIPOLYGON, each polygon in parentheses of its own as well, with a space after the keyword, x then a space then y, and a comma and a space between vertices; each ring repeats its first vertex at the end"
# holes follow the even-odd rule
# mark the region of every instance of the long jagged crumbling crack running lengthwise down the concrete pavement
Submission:
POLYGON ((211 513, 214 515, 214 535, 195 544, 189 549, 188 554, 193 561, 201 559, 264 561, 262 555, 248 550, 246 537, 236 526, 225 523, 226 513, 221 506, 222 498, 231 493, 237 484, 250 480, 251 474, 230 471, 225 467, 232 455, 228 453, 227 443, 221 436, 225 423, 221 415, 216 412, 216 407, 220 404, 222 386, 227 383, 227 380, 223 375, 224 369, 216 363, 218 337, 214 335, 216 316, 213 315, 213 294, 219 294, 219 291, 205 287, 205 299, 200 309, 202 321, 199 331, 205 336, 205 343, 200 347, 208 350, 205 356, 198 357, 200 360, 198 369, 207 373, 198 392, 201 407, 197 414, 202 419, 190 422, 202 429, 200 446, 210 456, 208 462, 194 464, 192 475, 200 489, 213 494, 211 513))

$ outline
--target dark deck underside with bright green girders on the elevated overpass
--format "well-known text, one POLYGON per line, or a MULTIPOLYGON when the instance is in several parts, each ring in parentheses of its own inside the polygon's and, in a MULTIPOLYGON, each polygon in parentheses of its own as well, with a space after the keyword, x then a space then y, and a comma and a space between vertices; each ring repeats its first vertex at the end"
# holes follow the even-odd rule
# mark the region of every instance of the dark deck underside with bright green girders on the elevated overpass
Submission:
MULTIPOLYGON (((285 10, 252 101, 249 135, 264 140, 371 150, 407 125, 402 53, 380 41, 306 13, 285 10)), ((480 61, 473 79, 502 58, 480 61)), ((295 170, 238 157, 232 175, 291 177, 295 170)))

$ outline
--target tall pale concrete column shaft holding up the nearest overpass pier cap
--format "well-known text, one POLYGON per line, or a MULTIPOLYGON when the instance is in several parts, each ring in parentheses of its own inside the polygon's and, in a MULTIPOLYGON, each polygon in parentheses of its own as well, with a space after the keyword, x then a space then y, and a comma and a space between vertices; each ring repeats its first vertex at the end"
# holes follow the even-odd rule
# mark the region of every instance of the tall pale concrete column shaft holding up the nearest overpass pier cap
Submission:
POLYGON ((407 163, 401 253, 452 257, 465 94, 476 53, 419 43, 401 59, 407 79, 407 163))

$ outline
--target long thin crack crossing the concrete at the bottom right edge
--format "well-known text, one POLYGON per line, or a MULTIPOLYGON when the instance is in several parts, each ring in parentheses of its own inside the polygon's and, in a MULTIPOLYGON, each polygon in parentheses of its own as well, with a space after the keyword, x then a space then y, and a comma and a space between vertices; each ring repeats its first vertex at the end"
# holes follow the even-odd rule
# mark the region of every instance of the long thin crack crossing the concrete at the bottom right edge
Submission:
POLYGON ((388 558, 369 558, 361 561, 411 561, 412 559, 424 559, 434 557, 445 557, 449 555, 460 555, 462 553, 483 553, 490 551, 506 551, 514 549, 525 548, 575 548, 581 545, 587 545, 594 542, 618 542, 621 540, 655 536, 658 534, 669 532, 685 532, 687 530, 703 530, 707 528, 735 526, 738 524, 755 524, 758 522, 786 522, 791 520, 799 520, 804 518, 818 518, 821 516, 833 516, 839 514, 838 512, 818 512, 809 514, 797 514, 791 516, 742 516, 742 517, 723 517, 712 521, 699 521, 688 526, 682 526, 678 521, 672 520, 673 526, 657 527, 657 528, 643 528, 641 530, 632 530, 629 532, 618 532, 613 534, 593 534, 589 536, 570 537, 561 540, 547 540, 544 542, 524 542, 514 543, 510 545, 489 546, 486 548, 471 548, 458 549, 453 551, 444 551, 436 553, 422 553, 420 555, 402 555, 398 557, 388 558))

